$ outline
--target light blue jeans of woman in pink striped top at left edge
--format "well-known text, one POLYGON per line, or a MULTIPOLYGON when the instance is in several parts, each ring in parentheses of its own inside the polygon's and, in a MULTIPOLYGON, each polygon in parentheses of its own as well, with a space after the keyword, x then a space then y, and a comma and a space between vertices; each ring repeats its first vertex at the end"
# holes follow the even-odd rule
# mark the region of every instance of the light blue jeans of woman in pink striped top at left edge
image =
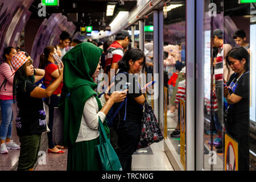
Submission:
POLYGON ((11 131, 13 129, 13 110, 11 105, 13 100, 0 100, 2 123, 0 125, 0 139, 11 139, 11 131))

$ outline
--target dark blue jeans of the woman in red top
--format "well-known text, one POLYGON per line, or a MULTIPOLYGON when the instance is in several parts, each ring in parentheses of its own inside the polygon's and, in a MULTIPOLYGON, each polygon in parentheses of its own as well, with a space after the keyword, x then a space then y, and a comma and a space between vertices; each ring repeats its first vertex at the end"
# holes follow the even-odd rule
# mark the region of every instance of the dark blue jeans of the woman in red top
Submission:
POLYGON ((53 116, 54 116, 54 107, 57 107, 59 104, 60 96, 57 96, 56 94, 52 94, 51 97, 47 97, 44 102, 49 107, 49 123, 48 127, 50 132, 47 133, 48 136, 48 147, 54 148, 55 143, 52 141, 52 127, 53 127, 53 116))

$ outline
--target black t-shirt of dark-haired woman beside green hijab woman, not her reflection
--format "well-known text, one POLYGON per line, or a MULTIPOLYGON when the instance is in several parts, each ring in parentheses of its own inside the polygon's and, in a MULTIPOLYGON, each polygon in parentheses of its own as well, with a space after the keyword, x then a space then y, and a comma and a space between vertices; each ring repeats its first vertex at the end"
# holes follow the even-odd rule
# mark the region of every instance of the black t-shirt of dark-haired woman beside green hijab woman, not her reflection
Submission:
MULTIPOLYGON (((126 105, 126 121, 125 122, 141 123, 142 115, 143 115, 143 106, 138 104, 134 100, 134 98, 142 95, 139 82, 137 78, 132 76, 131 74, 125 74, 126 80, 123 80, 125 79, 124 77, 118 80, 119 76, 120 76, 119 74, 115 76, 115 86, 116 86, 115 90, 121 90, 122 88, 121 81, 131 82, 131 85, 128 88, 129 91, 126 95, 127 105, 126 105)), ((120 102, 113 105, 113 112, 115 112, 118 109, 119 105, 120 105, 120 102)), ((125 116, 125 104, 123 104, 118 114, 115 116, 114 123, 116 124, 118 122, 123 122, 124 116, 125 116)))

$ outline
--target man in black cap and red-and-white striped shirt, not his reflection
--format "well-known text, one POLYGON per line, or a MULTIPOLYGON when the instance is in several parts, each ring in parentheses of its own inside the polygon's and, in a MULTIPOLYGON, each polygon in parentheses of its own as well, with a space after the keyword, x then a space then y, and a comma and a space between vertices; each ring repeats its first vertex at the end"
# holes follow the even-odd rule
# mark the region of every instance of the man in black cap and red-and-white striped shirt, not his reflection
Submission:
POLYGON ((107 73, 109 76, 110 84, 110 69, 114 69, 114 75, 117 73, 118 61, 122 59, 124 52, 123 49, 126 49, 131 41, 129 32, 126 30, 121 30, 117 33, 115 41, 110 45, 105 53, 105 70, 104 73, 107 73))

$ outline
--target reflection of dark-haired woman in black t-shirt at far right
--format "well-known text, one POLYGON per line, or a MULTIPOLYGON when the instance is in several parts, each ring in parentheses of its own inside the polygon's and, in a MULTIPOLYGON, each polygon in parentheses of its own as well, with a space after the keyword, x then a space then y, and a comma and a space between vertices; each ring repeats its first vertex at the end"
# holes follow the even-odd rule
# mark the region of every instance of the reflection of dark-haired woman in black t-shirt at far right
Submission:
POLYGON ((238 170, 249 170, 249 54, 245 48, 234 47, 226 55, 234 71, 224 86, 228 102, 226 132, 238 142, 238 170))

